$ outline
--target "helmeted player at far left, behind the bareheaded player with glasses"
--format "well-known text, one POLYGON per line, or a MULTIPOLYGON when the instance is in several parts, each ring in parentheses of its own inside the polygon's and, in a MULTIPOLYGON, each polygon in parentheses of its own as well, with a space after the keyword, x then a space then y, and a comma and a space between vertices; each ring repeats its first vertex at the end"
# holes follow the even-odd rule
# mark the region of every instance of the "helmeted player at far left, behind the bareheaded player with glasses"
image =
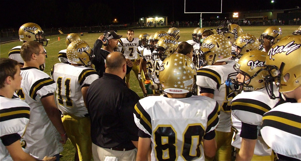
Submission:
MULTIPOLYGON (((36 23, 23 24, 19 29, 19 39, 23 43, 28 42, 28 41, 38 41, 43 46, 47 46, 48 40, 49 40, 49 39, 45 38, 44 31, 36 23), (45 45, 44 45, 44 42, 46 42, 45 45)), ((24 60, 22 59, 22 57, 20 55, 20 49, 21 49, 21 46, 13 47, 8 52, 8 58, 14 59, 17 62, 19 62, 19 66, 20 66, 20 68, 22 68, 24 65, 24 60)), ((44 51, 45 51, 45 53, 47 53, 45 48, 44 48, 44 51)), ((46 58, 47 58, 47 55, 46 55, 46 58)), ((41 71, 44 71, 44 68, 45 68, 45 63, 39 66, 39 69, 41 71)))

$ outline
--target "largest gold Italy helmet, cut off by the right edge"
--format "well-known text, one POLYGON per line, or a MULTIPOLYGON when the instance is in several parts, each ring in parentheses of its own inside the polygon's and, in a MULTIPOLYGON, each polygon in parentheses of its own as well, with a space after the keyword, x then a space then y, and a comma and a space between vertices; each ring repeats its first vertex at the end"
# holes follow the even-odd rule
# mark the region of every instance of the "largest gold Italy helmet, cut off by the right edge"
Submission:
MULTIPOLYGON (((274 44, 268 50, 266 69, 269 75, 265 81, 275 82, 279 92, 295 90, 301 85, 301 35, 293 35, 274 44)), ((267 87, 272 99, 275 99, 272 85, 267 87)))

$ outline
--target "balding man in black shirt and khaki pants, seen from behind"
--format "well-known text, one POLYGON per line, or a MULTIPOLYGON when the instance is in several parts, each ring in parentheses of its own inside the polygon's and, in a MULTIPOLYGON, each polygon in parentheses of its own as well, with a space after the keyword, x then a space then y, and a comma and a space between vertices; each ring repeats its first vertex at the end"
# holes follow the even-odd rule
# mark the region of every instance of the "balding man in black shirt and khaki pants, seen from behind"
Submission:
POLYGON ((122 79, 126 75, 126 59, 122 53, 110 53, 105 67, 103 77, 95 80, 87 92, 93 158, 136 160, 138 127, 133 111, 140 98, 122 79))

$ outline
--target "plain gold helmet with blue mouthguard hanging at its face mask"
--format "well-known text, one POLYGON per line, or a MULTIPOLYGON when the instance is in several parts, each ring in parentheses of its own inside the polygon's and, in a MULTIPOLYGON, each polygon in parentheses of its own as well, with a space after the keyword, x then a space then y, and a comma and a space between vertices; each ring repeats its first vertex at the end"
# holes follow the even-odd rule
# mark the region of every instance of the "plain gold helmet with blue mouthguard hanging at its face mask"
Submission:
POLYGON ((266 56, 266 52, 259 50, 253 50, 241 56, 238 62, 233 66, 237 72, 228 75, 231 90, 249 92, 264 88, 264 78, 268 75, 268 71, 264 70, 266 56), (244 82, 237 81, 237 74, 244 76, 244 82))

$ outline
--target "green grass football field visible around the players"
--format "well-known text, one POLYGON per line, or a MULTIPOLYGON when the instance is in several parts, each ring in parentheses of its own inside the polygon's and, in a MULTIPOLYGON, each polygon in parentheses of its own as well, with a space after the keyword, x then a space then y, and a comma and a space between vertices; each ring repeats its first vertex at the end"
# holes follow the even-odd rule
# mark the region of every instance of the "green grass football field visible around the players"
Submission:
MULTIPOLYGON (((243 26, 242 29, 244 33, 250 33, 255 35, 257 38, 260 37, 262 32, 267 28, 268 26, 243 26)), ((286 35, 291 35, 293 31, 298 29, 299 26, 277 26, 281 27, 283 37, 286 35)), ((212 27, 213 28, 213 27, 212 27)), ((169 28, 147 28, 147 29, 135 29, 135 36, 138 38, 138 36, 141 33, 148 33, 149 35, 154 34, 157 31, 165 31, 167 32, 169 28)), ((178 28, 181 32, 181 37, 179 41, 187 41, 191 40, 191 34, 194 28, 178 28)), ((207 28, 209 29, 209 28, 207 28)), ((126 38, 126 30, 119 30, 117 32, 118 35, 123 35, 123 38, 126 38)), ((84 36, 81 36, 82 40, 86 41, 90 47, 93 47, 93 44, 95 40, 102 35, 102 33, 93 33, 93 34, 88 34, 84 33, 84 36)), ((46 67, 45 67, 45 72, 47 74, 50 74, 50 69, 51 67, 55 64, 58 63, 59 60, 57 59, 57 54, 60 50, 66 49, 66 44, 65 44, 65 38, 67 34, 63 36, 58 36, 58 35, 53 35, 53 36, 47 36, 47 38, 50 39, 48 41, 47 47, 45 49, 47 50, 47 56, 48 58, 46 59, 46 67), (60 37, 60 41, 58 41, 58 37, 60 37)), ((0 44, 0 57, 8 57, 8 51, 11 50, 11 48, 22 45, 22 42, 20 41, 14 41, 6 44, 0 44)), ((131 71, 131 77, 130 77, 130 88, 135 91, 141 98, 143 96, 143 93, 139 87, 138 81, 136 80, 135 74, 133 71, 131 71)), ((74 157, 74 148, 73 145, 67 141, 67 143, 64 145, 64 151, 61 153, 63 157, 61 160, 73 160, 74 157)))

